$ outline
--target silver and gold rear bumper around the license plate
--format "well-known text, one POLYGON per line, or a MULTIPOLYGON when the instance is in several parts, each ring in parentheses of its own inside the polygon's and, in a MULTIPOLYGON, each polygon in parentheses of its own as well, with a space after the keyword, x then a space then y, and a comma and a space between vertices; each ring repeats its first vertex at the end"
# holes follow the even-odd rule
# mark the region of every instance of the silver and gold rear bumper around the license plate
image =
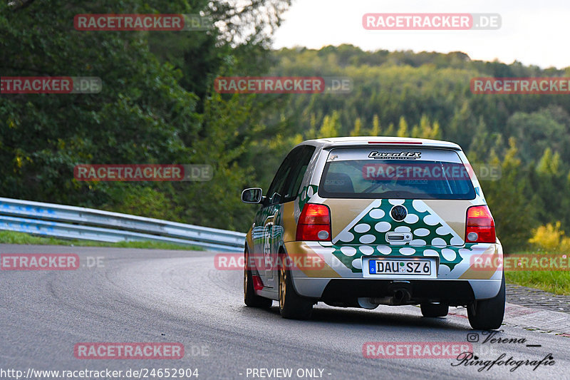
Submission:
MULTIPOLYGON (((390 278, 364 278, 362 272, 355 272, 343 265, 333 254, 333 249, 317 242, 288 242, 285 247, 288 255, 306 256, 311 259, 307 262, 318 262, 312 267, 291 271, 296 292, 304 297, 331 303, 350 303, 358 297, 388 297, 397 286, 390 278)), ((502 258, 501 245, 480 244, 460 251, 461 260, 452 269, 440 265, 440 257, 435 257, 438 260, 436 279, 405 279, 408 282, 405 286, 410 287, 413 301, 466 304, 474 299, 489 299, 498 294, 502 269, 482 270, 475 263, 480 258, 502 258)), ((405 257, 398 254, 387 256, 405 257)))

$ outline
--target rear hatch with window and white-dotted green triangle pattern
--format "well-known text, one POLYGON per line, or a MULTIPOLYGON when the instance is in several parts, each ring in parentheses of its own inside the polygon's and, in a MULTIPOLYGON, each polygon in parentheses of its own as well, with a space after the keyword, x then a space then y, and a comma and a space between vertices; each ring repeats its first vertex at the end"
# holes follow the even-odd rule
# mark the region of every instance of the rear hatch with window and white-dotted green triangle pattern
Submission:
POLYGON ((318 195, 335 255, 352 272, 367 256, 436 257, 453 269, 477 197, 457 150, 416 145, 332 148, 318 195))

